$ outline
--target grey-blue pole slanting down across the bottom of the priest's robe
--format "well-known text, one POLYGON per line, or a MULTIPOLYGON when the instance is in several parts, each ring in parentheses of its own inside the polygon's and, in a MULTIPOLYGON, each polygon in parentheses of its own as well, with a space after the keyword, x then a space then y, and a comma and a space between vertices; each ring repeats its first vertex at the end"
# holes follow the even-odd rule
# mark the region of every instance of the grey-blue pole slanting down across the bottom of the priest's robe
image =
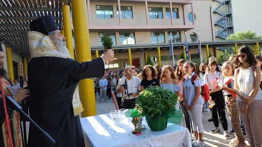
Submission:
MULTIPOLYGON (((0 93, 2 92, 2 90, 0 90, 0 93)), ((48 140, 50 140, 53 144, 55 144, 55 140, 47 133, 47 132, 45 132, 45 131, 43 131, 43 129, 42 128, 40 128, 36 123, 35 123, 35 121, 34 120, 32 120, 22 109, 22 107, 18 104, 18 103, 16 103, 15 101, 14 101, 14 99, 13 99, 13 97, 12 96, 7 96, 6 94, 5 94, 5 99, 6 99, 6 103, 8 104, 8 106, 10 106, 10 108, 12 109, 12 110, 15 110, 15 111, 17 111, 17 112, 19 112, 20 114, 22 114, 25 118, 27 118, 29 121, 30 121, 30 125, 34 125, 43 135, 45 135, 46 136, 46 138, 48 139, 48 140)), ((12 128, 13 129, 13 128, 12 128)), ((34 135, 36 135, 36 134, 34 134, 34 135)), ((25 140, 26 141, 26 140, 25 140)))

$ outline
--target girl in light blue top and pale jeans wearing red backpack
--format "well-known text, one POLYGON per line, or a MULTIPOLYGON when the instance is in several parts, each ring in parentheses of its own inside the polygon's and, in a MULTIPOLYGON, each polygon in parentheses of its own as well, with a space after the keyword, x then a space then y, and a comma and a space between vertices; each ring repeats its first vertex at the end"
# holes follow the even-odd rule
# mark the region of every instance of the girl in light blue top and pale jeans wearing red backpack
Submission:
POLYGON ((192 142, 193 146, 205 146, 203 140, 203 124, 202 124, 202 108, 205 102, 201 95, 201 87, 205 85, 204 81, 200 77, 194 77, 194 64, 192 62, 186 62, 184 64, 184 77, 183 86, 183 105, 188 110, 190 118, 193 123, 193 130, 195 140, 192 142), (192 78, 195 79, 192 79, 192 78), (192 83, 194 82, 194 84, 192 83))

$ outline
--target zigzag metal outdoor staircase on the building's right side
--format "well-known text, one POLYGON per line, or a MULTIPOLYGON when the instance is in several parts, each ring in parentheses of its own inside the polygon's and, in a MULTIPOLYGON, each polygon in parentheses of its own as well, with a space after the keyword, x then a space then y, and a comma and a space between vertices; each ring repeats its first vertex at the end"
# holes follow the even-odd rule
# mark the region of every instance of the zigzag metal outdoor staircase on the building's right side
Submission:
POLYGON ((225 40, 227 36, 231 34, 229 33, 231 31, 228 31, 228 30, 233 28, 232 22, 227 22, 228 21, 227 17, 230 17, 232 15, 232 12, 231 10, 222 11, 223 9, 221 10, 221 8, 225 7, 225 5, 228 5, 231 2, 231 0, 213 0, 213 2, 216 2, 219 4, 213 9, 213 14, 220 15, 220 17, 217 17, 217 19, 214 20, 214 25, 219 26, 221 28, 221 30, 215 33, 215 37, 219 37, 225 40), (226 30, 226 33, 225 33, 225 30, 226 30))

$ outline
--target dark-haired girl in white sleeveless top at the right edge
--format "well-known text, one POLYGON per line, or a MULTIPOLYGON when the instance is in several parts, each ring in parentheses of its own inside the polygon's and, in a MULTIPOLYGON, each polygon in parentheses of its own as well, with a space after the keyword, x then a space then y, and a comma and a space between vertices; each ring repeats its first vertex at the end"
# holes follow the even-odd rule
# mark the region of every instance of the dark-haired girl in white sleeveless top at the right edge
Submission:
POLYGON ((237 51, 235 66, 236 105, 243 120, 251 147, 262 145, 262 91, 259 88, 261 72, 248 46, 237 51))

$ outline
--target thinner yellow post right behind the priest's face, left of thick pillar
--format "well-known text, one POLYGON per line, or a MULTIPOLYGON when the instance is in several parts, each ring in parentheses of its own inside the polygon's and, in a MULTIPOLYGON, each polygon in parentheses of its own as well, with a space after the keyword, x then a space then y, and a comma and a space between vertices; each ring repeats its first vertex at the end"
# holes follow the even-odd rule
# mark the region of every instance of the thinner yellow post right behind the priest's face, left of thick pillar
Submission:
POLYGON ((72 59, 75 59, 74 56, 74 47, 73 47, 73 37, 72 37, 72 26, 70 18, 70 8, 68 5, 62 6, 63 13, 63 30, 65 41, 67 41, 67 48, 72 59))

